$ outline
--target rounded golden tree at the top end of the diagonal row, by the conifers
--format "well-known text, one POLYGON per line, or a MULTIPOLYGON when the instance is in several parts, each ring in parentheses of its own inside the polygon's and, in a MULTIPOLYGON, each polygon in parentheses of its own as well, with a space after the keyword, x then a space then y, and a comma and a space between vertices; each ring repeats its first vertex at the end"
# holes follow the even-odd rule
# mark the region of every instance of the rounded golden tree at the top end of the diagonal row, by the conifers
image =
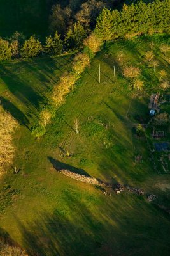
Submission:
POLYGON ((84 44, 89 47, 89 49, 96 53, 100 50, 103 41, 99 39, 96 35, 91 34, 84 40, 84 44))

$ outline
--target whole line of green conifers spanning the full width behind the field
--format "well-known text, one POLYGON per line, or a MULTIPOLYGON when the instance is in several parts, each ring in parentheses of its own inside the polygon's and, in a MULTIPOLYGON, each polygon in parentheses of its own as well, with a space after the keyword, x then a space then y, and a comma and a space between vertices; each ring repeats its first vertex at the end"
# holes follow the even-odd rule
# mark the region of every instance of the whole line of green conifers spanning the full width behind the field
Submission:
MULTIPOLYGON (((91 3, 90 1, 87 2, 91 3)), ((85 10, 87 9, 87 2, 84 3, 85 10)), ((124 4, 120 12, 104 8, 97 17, 94 33, 101 40, 114 40, 119 37, 128 39, 142 33, 152 34, 164 31, 168 33, 169 13, 169 0, 155 0, 148 4, 139 1, 129 6, 124 4)), ((72 26, 69 26, 65 36, 60 35, 56 30, 53 35, 46 36, 44 44, 41 44, 35 35, 24 40, 24 35, 16 31, 9 40, 0 38, 0 61, 20 57, 32 58, 39 54, 59 55, 73 49, 81 49, 83 40, 91 33, 87 23, 83 18, 78 19, 72 26)))

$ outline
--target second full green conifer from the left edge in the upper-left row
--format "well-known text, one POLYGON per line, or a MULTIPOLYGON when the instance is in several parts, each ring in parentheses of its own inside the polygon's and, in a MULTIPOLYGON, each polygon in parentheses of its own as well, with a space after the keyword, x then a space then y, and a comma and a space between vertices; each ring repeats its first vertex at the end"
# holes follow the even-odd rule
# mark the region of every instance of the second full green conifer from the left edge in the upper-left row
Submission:
POLYGON ((42 45, 38 39, 34 36, 31 36, 29 40, 26 40, 21 48, 21 56, 22 58, 31 58, 38 56, 38 54, 42 51, 42 45))

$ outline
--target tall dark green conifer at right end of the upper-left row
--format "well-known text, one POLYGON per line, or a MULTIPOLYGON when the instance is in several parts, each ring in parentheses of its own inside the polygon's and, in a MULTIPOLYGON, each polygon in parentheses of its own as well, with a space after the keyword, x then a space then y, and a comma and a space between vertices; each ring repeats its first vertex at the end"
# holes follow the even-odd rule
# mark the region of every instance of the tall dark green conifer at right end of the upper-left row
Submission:
POLYGON ((79 48, 83 44, 83 40, 87 33, 80 22, 76 22, 73 28, 67 31, 65 42, 69 49, 79 48))

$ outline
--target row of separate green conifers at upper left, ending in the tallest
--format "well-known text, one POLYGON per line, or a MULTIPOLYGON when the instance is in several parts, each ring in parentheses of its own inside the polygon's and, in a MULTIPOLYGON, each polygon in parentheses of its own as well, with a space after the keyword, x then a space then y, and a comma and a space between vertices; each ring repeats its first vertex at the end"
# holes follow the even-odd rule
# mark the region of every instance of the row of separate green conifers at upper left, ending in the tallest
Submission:
MULTIPOLYGON (((16 32, 18 33, 18 32, 16 32)), ((18 33, 19 34, 19 33, 18 33)), ((62 54, 64 50, 80 48, 87 33, 80 22, 77 22, 70 28, 64 40, 60 38, 56 31, 53 36, 47 36, 45 44, 42 45, 36 36, 31 36, 28 40, 3 40, 0 38, 0 61, 13 58, 32 58, 40 53, 62 54)))

